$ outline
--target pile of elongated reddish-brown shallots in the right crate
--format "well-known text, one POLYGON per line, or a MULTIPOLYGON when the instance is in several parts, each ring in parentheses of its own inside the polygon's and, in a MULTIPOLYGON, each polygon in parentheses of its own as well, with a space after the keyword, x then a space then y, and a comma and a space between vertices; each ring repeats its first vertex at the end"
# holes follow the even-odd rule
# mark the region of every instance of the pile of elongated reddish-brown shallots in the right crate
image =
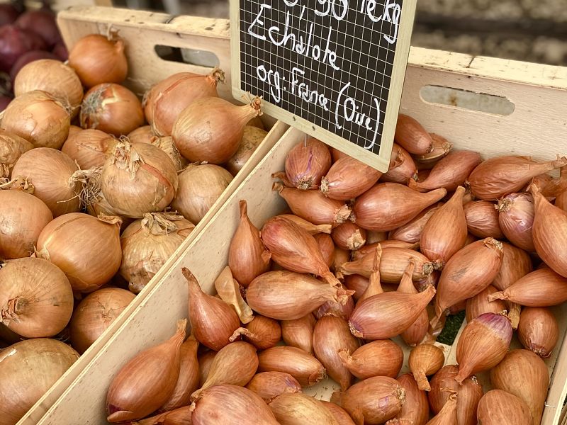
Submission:
POLYGON ((567 179, 548 172, 567 159, 483 162, 405 115, 395 140, 386 174, 313 138, 293 147, 273 187, 291 212, 258 229, 240 201, 217 295, 183 269, 190 327, 118 372, 108 421, 539 425, 549 307, 567 300, 567 179), (459 310, 445 365, 434 341, 459 310), (303 394, 327 375, 330 402, 303 394))

